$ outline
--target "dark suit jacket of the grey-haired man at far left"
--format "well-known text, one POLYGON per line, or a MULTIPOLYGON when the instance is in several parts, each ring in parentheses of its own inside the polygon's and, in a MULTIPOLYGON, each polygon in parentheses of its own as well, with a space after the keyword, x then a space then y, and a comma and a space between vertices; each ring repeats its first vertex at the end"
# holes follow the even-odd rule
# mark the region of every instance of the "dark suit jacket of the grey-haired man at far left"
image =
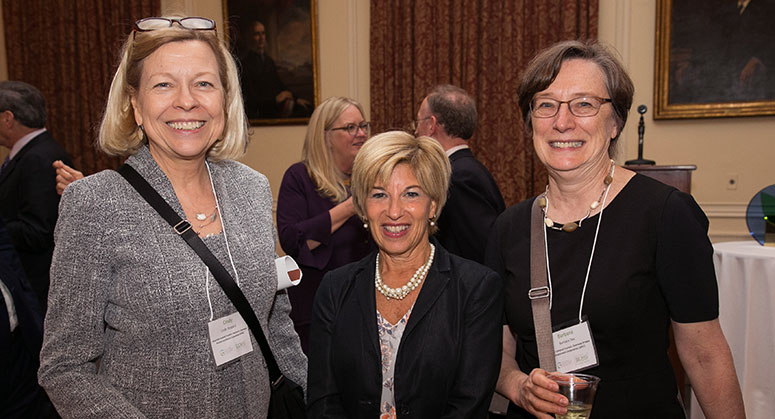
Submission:
POLYGON ((22 147, 0 173, 0 217, 27 280, 44 306, 59 207, 56 171, 51 166, 55 160, 72 165, 64 149, 45 131, 22 147))

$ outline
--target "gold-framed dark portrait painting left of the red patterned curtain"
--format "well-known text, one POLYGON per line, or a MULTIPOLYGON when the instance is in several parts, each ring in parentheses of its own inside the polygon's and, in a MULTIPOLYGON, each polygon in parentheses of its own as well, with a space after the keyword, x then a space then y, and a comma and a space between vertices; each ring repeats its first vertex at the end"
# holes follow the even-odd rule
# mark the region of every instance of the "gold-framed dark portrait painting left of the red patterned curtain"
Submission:
POLYGON ((223 0, 251 125, 306 124, 318 103, 316 0, 223 0))

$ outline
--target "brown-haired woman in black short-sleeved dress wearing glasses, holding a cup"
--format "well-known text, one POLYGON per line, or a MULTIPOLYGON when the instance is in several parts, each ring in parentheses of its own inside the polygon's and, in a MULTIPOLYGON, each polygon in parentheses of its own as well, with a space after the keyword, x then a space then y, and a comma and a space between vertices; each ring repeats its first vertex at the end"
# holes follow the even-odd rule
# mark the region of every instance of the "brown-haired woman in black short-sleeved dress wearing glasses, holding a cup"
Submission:
POLYGON ((683 418, 667 354, 671 324, 705 415, 744 417, 718 322, 708 219, 691 195, 611 159, 633 91, 596 43, 556 44, 522 73, 520 110, 549 176, 545 192, 501 214, 487 251, 504 280, 497 391, 512 402, 510 418, 570 413, 547 378, 555 369, 600 377, 595 419, 683 418), (548 338, 543 368, 536 329, 548 338))

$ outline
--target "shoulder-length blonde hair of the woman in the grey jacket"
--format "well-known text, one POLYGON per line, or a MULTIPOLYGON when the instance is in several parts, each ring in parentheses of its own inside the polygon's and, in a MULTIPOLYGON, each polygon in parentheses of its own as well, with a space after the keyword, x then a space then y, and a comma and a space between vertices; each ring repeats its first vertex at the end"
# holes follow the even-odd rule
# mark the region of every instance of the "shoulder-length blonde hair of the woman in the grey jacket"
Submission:
POLYGON ((189 30, 173 25, 148 32, 133 32, 121 48, 121 62, 113 76, 100 123, 97 143, 107 154, 133 154, 144 143, 142 129, 137 126, 130 99, 138 91, 143 62, 161 46, 170 42, 201 41, 215 54, 224 95, 225 124, 221 138, 208 150, 214 160, 237 159, 248 146, 248 120, 242 103, 237 65, 226 44, 215 31, 189 30))

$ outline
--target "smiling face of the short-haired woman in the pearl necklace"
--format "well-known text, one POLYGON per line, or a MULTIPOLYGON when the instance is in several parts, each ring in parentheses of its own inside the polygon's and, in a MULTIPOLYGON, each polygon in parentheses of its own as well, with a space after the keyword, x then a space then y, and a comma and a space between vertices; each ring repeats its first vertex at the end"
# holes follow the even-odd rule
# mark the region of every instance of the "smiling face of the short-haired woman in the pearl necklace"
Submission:
POLYGON ((434 214, 436 202, 406 163, 393 169, 387 184, 377 180, 366 198, 371 234, 380 252, 389 257, 423 258, 429 244, 428 219, 434 214))

